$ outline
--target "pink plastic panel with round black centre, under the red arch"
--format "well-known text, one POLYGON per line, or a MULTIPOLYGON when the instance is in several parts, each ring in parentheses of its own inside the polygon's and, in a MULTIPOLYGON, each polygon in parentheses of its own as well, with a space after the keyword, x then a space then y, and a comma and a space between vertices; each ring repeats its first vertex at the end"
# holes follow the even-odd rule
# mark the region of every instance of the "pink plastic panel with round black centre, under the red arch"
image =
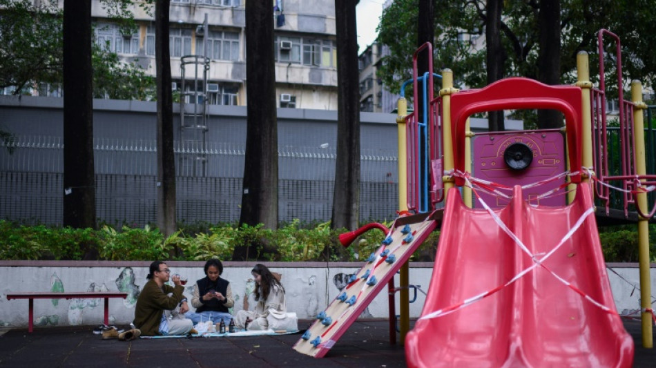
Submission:
MULTIPOLYGON (((531 184, 566 171, 565 142, 563 134, 557 130, 477 133, 473 139, 473 148, 474 177, 505 186, 531 184), (505 149, 518 142, 526 144, 533 152, 533 160, 530 166, 522 171, 512 170, 505 164, 503 159, 505 149)), ((564 206, 566 204, 564 189, 550 197, 543 199, 537 197, 541 193, 547 193, 558 188, 564 182, 563 177, 548 184, 527 188, 523 192, 524 199, 530 200, 531 204, 564 206)), ((505 193, 510 194, 508 191, 505 191, 505 193)), ((509 202, 503 197, 496 197, 486 193, 481 193, 481 197, 492 208, 505 206, 509 202)), ((482 208, 478 201, 474 201, 474 207, 482 208)))

